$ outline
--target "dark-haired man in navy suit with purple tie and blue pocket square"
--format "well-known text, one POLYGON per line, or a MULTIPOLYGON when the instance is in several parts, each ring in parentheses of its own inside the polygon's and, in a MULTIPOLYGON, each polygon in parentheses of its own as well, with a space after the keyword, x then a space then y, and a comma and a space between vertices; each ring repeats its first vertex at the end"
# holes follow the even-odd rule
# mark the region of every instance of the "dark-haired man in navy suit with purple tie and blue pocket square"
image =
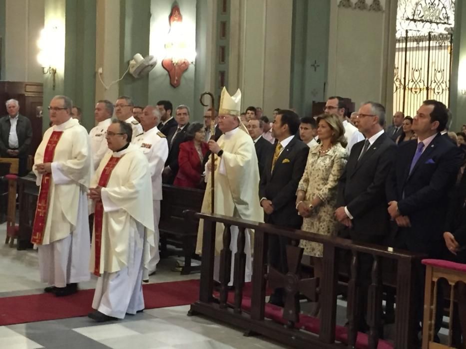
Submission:
MULTIPOLYGON (((424 101, 413 120, 418 140, 399 146, 387 180, 388 212, 398 226, 394 246, 430 258, 438 258, 442 252, 448 192, 462 164, 459 148, 440 134, 447 122, 448 111, 443 103, 424 101)), ((413 286, 418 290, 414 306, 419 321, 423 314, 424 278, 425 270, 418 265, 413 286)), ((436 325, 440 325, 442 312, 437 314, 436 325)))

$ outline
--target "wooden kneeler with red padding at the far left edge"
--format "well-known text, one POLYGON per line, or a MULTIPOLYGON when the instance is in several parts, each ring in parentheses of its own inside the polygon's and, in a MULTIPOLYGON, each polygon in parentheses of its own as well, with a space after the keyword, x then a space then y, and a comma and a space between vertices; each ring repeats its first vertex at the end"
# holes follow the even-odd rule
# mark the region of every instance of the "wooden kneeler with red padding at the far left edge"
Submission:
POLYGON ((16 220, 16 183, 18 178, 18 159, 0 158, 0 164, 10 164, 9 174, 5 175, 8 179, 8 205, 6 208, 6 238, 5 244, 13 247, 14 239, 18 236, 18 226, 16 220))

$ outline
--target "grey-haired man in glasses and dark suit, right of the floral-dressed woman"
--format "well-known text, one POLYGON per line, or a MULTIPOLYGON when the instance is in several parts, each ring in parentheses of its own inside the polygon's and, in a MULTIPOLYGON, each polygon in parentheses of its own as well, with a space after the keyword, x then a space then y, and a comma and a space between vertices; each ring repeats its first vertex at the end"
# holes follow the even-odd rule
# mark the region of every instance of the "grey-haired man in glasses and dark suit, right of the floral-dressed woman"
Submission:
MULTIPOLYGON (((348 227, 355 242, 383 244, 390 230, 385 182, 393 166, 396 144, 384 132, 385 108, 367 102, 358 112, 358 129, 366 138, 356 143, 340 178, 335 216, 348 227)), ((356 326, 365 330, 367 290, 370 284, 372 256, 360 255, 359 275, 362 276, 358 307, 361 312, 356 326)))

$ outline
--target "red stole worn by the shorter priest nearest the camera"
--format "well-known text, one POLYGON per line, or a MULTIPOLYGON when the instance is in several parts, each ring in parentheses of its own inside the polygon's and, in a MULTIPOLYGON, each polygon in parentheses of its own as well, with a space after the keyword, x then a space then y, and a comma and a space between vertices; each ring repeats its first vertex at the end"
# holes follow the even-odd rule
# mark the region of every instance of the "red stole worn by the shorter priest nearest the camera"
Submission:
MULTIPOLYGON (((99 178, 99 186, 106 187, 108 179, 112 174, 113 169, 121 158, 111 157, 105 165, 99 178)), ((100 250, 102 247, 102 221, 103 221, 103 204, 102 199, 95 202, 94 210, 94 245, 95 245, 95 259, 94 259, 94 275, 100 276, 100 250)))

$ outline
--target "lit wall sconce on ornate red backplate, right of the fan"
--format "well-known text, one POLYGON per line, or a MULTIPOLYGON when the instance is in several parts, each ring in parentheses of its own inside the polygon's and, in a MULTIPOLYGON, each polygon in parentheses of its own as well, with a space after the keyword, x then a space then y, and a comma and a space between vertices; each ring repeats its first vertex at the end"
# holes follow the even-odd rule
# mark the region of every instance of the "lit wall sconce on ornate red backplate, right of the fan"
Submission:
POLYGON ((165 42, 165 58, 162 60, 162 67, 170 76, 170 85, 178 87, 181 82, 181 75, 188 69, 189 64, 194 64, 196 51, 190 47, 186 40, 188 28, 183 24, 183 16, 178 5, 171 8, 170 30, 165 42))

